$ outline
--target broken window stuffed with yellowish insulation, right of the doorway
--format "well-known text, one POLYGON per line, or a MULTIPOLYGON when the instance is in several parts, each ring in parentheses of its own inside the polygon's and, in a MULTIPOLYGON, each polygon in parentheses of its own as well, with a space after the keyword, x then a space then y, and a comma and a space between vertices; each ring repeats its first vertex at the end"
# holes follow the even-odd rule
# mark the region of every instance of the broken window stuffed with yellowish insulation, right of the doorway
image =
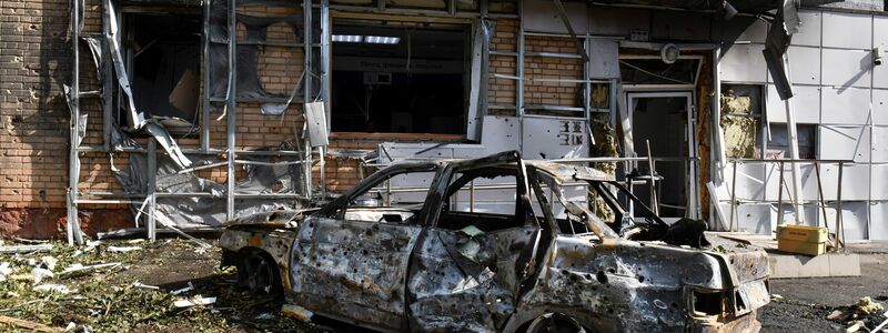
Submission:
POLYGON ((761 153, 761 85, 722 84, 722 130, 725 155, 753 159, 761 153))

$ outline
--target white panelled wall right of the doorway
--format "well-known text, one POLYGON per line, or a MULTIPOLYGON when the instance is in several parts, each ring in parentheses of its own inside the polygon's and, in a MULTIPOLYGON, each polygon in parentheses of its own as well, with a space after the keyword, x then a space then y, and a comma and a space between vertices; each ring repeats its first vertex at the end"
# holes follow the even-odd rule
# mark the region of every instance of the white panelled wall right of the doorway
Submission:
MULTIPOLYGON (((841 181, 841 215, 848 240, 888 240, 888 64, 874 65, 871 59, 874 47, 888 47, 888 17, 811 9, 801 10, 800 17, 801 31, 793 37, 788 51, 796 119, 799 123, 818 124, 820 159, 847 159, 856 163, 846 167, 841 181)), ((771 122, 785 122, 784 103, 759 53, 766 29, 764 22, 758 22, 739 33, 739 42, 722 59, 719 75, 731 83, 767 84, 766 114, 771 122)), ((809 169, 803 172, 803 198, 816 200, 817 183, 809 169)), ((776 199, 774 168, 765 169, 764 174, 750 167, 744 171, 749 179, 738 181, 739 193, 760 196, 751 186, 765 181, 769 185, 766 200, 776 199)), ((824 216, 810 205, 806 215, 810 216, 809 224, 828 222, 831 228, 837 208, 836 165, 825 165, 821 180, 829 201, 827 214, 824 216), (809 214, 813 209, 816 212, 809 214)), ((787 193, 784 194, 786 199, 787 193)), ((766 234, 769 231, 765 225, 774 228, 777 214, 774 205, 766 210, 768 213, 759 205, 744 205, 740 211, 760 211, 739 214, 749 218, 738 221, 743 229, 766 234), (765 216, 771 221, 763 221, 765 216)), ((785 218, 791 219, 787 215, 791 212, 783 211, 785 218)))

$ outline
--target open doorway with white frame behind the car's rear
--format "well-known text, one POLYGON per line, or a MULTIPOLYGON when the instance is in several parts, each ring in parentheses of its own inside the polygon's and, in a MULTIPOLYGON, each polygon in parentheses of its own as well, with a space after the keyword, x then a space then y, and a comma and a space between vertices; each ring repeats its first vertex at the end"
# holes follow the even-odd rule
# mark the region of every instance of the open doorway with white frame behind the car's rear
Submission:
MULTIPOLYGON (((696 218, 697 145, 692 101, 689 91, 627 93, 635 153, 647 157, 649 143, 654 169, 662 176, 655 188, 662 218, 696 218)), ((647 163, 638 167, 647 174, 647 163)), ((653 208, 648 184, 635 185, 634 192, 653 208)))

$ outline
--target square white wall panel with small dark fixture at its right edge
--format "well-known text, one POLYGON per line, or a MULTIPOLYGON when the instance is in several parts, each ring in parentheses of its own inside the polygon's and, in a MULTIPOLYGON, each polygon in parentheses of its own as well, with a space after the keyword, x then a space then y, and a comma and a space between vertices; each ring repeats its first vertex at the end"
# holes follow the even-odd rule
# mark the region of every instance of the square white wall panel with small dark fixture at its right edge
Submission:
POLYGON ((824 49, 824 85, 869 87, 871 51, 824 49))

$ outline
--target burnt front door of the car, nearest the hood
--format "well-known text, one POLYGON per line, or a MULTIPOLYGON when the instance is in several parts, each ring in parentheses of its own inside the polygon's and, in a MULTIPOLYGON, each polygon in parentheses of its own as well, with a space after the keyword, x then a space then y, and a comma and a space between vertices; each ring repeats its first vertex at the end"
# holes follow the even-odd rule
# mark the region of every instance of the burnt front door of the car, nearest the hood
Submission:
POLYGON ((292 251, 294 303, 363 326, 406 330, 405 279, 422 230, 416 221, 424 195, 418 194, 425 193, 413 193, 408 208, 391 194, 385 200, 372 196, 383 195, 380 189, 392 178, 433 178, 434 171, 424 167, 376 173, 306 219, 292 251))

